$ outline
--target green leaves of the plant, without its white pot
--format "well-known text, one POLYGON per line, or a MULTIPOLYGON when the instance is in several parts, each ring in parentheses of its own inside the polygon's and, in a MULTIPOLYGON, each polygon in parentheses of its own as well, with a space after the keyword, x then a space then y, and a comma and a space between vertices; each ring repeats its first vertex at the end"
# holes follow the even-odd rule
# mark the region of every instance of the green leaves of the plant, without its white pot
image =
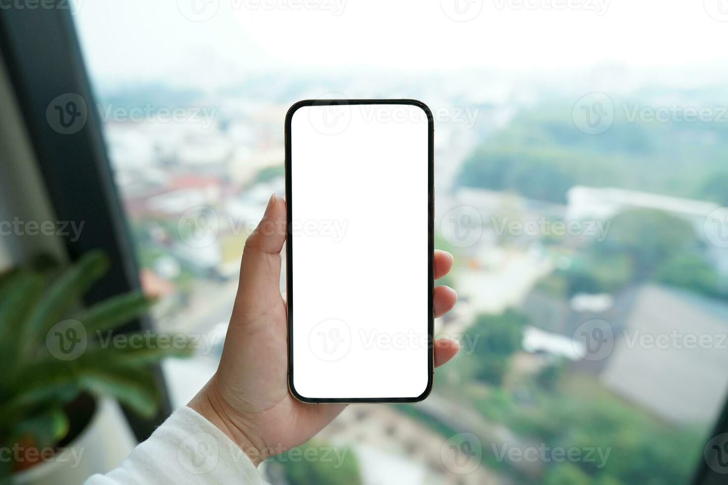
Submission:
MULTIPOLYGON (((92 251, 68 268, 16 268, 0 277, 0 446, 56 446, 68 433, 68 405, 83 393, 111 396, 144 417, 157 411, 159 391, 148 366, 187 355, 190 345, 186 337, 169 345, 170 336, 151 332, 116 332, 124 340, 110 340, 153 302, 134 291, 79 308, 108 265, 103 252, 92 251), (141 345, 128 344, 134 335, 141 345)), ((20 465, 6 461, 0 477, 20 465)))

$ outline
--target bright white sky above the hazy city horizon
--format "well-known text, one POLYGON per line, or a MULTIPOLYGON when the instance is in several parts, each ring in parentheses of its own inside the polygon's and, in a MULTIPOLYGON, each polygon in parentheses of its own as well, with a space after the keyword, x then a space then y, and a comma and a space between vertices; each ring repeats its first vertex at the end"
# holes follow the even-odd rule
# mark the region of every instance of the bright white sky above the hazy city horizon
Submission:
POLYGON ((728 22, 708 14, 722 19, 722 2, 728 20, 728 0, 568 0, 581 2, 581 9, 550 7, 567 0, 74 1, 87 64, 100 79, 183 76, 210 71, 215 63, 242 72, 553 70, 728 59, 728 22), (189 12, 193 1, 210 2, 203 12, 217 7, 216 14, 189 20, 181 10, 189 12), (275 8, 290 1, 323 8, 275 8), (470 5, 466 15, 479 8, 480 14, 467 22, 452 20, 445 10, 453 12, 455 1, 470 5), (521 7, 523 2, 536 8, 521 7), (598 15, 595 9, 605 7, 598 15))

